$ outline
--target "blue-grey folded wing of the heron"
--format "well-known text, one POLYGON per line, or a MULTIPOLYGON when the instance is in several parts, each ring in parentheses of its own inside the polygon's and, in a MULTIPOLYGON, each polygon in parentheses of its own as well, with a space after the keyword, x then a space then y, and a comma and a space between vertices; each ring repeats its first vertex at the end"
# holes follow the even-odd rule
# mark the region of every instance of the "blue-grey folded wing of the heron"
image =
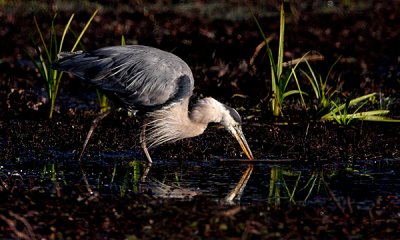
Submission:
POLYGON ((181 101, 192 95, 194 87, 192 72, 182 59, 147 46, 113 46, 67 54, 54 67, 93 83, 131 110, 181 101))

